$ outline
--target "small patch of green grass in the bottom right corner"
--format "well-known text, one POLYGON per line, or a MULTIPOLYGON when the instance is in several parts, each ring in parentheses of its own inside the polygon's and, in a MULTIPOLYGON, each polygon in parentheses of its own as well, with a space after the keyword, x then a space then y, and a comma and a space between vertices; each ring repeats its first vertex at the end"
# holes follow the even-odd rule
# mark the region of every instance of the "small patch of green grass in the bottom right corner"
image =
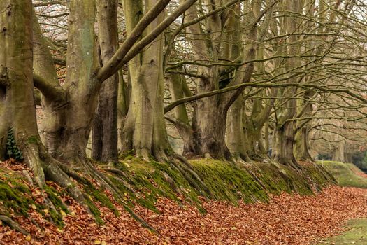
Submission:
POLYGON ((367 244, 367 219, 352 220, 347 223, 347 232, 319 242, 321 244, 367 244))

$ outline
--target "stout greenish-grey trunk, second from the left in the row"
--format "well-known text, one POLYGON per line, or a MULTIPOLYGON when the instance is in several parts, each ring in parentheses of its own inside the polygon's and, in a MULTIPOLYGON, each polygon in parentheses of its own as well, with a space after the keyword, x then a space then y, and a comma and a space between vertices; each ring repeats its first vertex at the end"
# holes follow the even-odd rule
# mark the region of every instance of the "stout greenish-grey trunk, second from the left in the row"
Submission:
POLYGON ((94 1, 71 1, 65 89, 69 94, 62 135, 55 151, 68 162, 85 160, 85 148, 98 101, 100 83, 96 80, 98 55, 94 44, 94 1), (80 5, 83 8, 80 8, 80 5), (82 43, 82 45, 81 45, 82 43))

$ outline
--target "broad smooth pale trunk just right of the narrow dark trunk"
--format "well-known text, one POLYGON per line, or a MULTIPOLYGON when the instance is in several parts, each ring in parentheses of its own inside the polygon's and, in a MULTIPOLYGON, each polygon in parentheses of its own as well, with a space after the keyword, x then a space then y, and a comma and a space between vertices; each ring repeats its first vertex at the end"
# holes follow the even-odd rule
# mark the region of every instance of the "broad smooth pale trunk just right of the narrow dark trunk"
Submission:
MULTIPOLYGON (((153 5, 154 1, 147 1, 146 8, 153 5)), ((129 6, 133 8, 130 3, 125 10, 129 6)), ((140 4, 133 9, 136 6, 140 4)), ((133 20, 127 21, 129 29, 132 28, 130 25, 136 25, 136 16, 131 18, 133 20)), ((149 34, 163 19, 164 12, 150 23, 146 33, 149 34)), ((134 129, 132 147, 144 160, 149 160, 150 156, 165 160, 166 152, 171 151, 164 123, 163 45, 163 35, 159 35, 149 48, 129 63, 132 94, 124 132, 131 134, 134 129)))

